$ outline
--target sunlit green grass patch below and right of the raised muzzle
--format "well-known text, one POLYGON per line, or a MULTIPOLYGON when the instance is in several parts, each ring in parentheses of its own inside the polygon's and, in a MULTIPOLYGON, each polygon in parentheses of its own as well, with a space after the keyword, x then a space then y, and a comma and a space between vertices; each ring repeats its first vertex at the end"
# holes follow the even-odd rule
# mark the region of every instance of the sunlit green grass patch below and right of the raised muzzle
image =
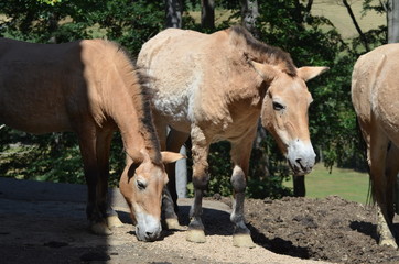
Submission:
MULTIPOLYGON (((292 180, 284 186, 292 188, 292 180)), ((353 169, 333 168, 332 174, 319 163, 313 172, 305 176, 306 197, 324 198, 336 195, 346 200, 366 204, 368 195, 368 174, 353 169)))

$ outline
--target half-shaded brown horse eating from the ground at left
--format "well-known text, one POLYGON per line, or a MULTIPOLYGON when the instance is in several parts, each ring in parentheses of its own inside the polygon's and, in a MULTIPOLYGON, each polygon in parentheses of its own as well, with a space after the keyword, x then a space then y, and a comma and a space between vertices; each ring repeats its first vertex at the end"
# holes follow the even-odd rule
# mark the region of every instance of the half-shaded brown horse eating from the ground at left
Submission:
MULTIPOLYGON (((141 78, 142 79, 142 78, 141 78)), ((101 40, 32 44, 0 40, 0 122, 30 133, 73 131, 88 186, 87 217, 95 233, 109 234, 107 216, 112 133, 119 129, 128 156, 120 189, 137 220, 139 240, 161 231, 161 196, 168 176, 149 101, 126 53, 101 40)), ((119 221, 120 223, 120 221, 119 221)))

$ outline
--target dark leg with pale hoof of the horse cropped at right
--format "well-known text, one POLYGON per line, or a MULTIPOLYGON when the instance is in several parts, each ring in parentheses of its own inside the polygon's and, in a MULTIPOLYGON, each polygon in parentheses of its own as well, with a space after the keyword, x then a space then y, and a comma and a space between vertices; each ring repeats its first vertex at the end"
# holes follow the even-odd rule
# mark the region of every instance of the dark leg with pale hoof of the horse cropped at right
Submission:
POLYGON ((373 198, 377 202, 377 233, 380 245, 391 245, 398 248, 390 230, 391 219, 388 216, 388 197, 387 193, 392 191, 393 186, 388 186, 386 175, 386 162, 388 139, 381 131, 373 131, 370 136, 369 166, 371 179, 373 198))

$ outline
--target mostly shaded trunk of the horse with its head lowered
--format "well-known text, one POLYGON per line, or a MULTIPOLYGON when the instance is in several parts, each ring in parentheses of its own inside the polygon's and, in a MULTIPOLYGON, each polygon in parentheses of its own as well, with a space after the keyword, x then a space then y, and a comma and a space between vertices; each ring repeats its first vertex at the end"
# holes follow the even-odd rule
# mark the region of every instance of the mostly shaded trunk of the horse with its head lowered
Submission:
POLYGON ((0 121, 31 133, 74 130, 98 101, 99 55, 101 41, 0 40, 0 121))

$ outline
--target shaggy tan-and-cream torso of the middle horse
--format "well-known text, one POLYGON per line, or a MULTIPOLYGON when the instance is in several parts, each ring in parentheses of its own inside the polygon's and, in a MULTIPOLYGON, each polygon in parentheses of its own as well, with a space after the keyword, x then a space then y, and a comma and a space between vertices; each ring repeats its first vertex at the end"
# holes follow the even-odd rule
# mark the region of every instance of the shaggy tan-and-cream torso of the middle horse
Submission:
POLYGON ((169 29, 159 33, 138 56, 139 66, 154 77, 150 87, 155 114, 169 123, 185 122, 185 128, 191 122, 212 123, 223 133, 234 120, 256 123, 252 117, 259 116, 260 107, 255 112, 248 107, 239 110, 241 105, 248 106, 241 96, 251 101, 259 92, 259 79, 242 55, 230 43, 227 31, 208 35, 169 29))

